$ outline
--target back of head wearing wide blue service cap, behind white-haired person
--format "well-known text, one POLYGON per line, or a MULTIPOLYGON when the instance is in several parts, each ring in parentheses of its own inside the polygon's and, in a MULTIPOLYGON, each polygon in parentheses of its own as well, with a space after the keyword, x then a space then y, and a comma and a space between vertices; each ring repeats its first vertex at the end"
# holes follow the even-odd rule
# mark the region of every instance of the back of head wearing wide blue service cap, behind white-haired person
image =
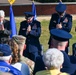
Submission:
POLYGON ((63 47, 64 50, 67 46, 68 40, 72 38, 72 35, 68 33, 67 31, 64 31, 62 29, 52 29, 50 31, 52 40, 52 47, 58 48, 58 46, 63 47))

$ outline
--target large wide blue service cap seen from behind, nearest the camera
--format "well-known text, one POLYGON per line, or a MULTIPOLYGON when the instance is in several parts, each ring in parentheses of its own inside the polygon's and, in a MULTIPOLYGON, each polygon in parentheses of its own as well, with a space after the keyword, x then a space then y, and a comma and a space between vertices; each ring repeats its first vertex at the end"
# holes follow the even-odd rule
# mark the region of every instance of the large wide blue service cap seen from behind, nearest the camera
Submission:
POLYGON ((61 29, 52 29, 50 31, 52 37, 58 41, 67 41, 72 38, 72 35, 61 29))

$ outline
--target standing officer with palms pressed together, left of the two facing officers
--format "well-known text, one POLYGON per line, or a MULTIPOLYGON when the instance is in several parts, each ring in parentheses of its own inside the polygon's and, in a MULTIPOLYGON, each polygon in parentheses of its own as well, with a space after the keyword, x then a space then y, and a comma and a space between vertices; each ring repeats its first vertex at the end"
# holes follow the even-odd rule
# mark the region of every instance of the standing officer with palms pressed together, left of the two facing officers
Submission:
POLYGON ((25 12, 25 19, 20 23, 19 35, 26 37, 26 50, 23 55, 36 61, 36 57, 41 55, 41 45, 39 37, 41 35, 41 23, 34 20, 32 12, 25 12))

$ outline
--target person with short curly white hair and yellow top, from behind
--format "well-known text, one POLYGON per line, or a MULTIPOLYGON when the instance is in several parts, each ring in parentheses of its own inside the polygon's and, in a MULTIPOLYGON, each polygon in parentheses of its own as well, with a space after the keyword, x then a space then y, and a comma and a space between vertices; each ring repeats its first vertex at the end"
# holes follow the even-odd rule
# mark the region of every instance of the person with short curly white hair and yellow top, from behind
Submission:
POLYGON ((46 66, 46 70, 39 71, 36 75, 69 75, 67 73, 60 72, 64 62, 64 56, 58 49, 48 49, 43 55, 43 61, 46 66))

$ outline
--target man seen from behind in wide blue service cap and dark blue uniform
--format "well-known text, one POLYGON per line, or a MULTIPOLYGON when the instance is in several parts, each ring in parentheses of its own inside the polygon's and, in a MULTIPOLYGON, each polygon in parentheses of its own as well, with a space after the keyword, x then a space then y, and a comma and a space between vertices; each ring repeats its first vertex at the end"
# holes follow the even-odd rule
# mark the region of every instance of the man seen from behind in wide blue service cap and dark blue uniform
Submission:
POLYGON ((61 29, 52 29, 51 30, 52 37, 52 48, 57 48, 64 55, 63 67, 61 69, 62 72, 67 72, 69 74, 73 74, 76 70, 76 64, 72 64, 70 62, 69 56, 65 52, 65 48, 68 43, 68 39, 72 38, 72 35, 61 29))

